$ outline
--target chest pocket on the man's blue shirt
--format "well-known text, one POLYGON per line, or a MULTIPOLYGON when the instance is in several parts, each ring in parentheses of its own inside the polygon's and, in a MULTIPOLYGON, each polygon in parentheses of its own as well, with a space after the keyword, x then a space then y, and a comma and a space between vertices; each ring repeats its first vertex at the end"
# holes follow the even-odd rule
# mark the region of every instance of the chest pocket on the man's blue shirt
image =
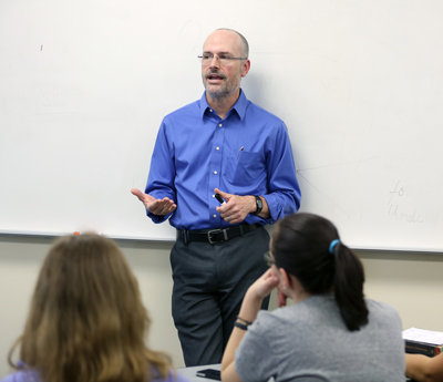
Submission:
POLYGON ((260 153, 240 152, 229 157, 227 179, 234 186, 251 186, 266 176, 265 159, 260 153))

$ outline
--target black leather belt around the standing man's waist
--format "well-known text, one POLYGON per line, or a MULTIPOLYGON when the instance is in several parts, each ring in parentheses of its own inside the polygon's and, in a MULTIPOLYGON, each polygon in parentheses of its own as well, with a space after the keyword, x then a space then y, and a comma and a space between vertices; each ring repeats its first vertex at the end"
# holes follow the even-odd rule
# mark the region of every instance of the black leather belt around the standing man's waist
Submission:
POLYGON ((219 228, 219 229, 202 229, 202 230, 187 230, 187 229, 177 229, 177 240, 183 240, 185 244, 189 241, 206 241, 210 244, 224 242, 236 237, 240 237, 257 228, 260 228, 261 225, 253 224, 253 225, 239 225, 235 227, 228 228, 219 228))

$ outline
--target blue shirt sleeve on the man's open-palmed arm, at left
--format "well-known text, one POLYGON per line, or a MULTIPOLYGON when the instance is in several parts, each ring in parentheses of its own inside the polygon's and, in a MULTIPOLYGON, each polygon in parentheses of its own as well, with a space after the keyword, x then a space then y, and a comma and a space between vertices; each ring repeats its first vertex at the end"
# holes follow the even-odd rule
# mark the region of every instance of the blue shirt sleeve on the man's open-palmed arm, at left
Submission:
MULTIPOLYGON (((164 120, 158 130, 157 140, 155 142, 145 193, 158 199, 168 197, 171 200, 177 203, 174 178, 174 146, 172 144, 172 137, 168 136, 167 125, 164 120)), ((146 215, 154 223, 162 223, 168 219, 174 213, 166 216, 159 216, 154 215, 146 209, 146 215)))

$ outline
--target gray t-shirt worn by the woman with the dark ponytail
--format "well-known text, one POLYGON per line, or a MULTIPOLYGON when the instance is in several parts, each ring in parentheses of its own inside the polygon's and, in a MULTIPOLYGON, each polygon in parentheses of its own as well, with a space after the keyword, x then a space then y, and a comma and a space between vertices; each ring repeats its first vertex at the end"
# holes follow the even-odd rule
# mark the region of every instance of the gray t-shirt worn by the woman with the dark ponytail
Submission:
POLYGON ((404 342, 398 312, 367 300, 369 323, 349 331, 333 295, 311 296, 260 311, 236 350, 245 382, 404 382, 404 342))

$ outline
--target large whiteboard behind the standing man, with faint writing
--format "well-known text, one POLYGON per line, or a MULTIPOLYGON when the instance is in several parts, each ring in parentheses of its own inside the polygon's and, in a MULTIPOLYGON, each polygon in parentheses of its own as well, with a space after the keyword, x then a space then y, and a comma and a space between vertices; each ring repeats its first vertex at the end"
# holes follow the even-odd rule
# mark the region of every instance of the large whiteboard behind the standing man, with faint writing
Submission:
POLYGON ((226 27, 247 97, 288 126, 301 209, 353 248, 443 251, 442 20, 439 0, 2 0, 0 233, 174 240, 130 190, 226 27))

